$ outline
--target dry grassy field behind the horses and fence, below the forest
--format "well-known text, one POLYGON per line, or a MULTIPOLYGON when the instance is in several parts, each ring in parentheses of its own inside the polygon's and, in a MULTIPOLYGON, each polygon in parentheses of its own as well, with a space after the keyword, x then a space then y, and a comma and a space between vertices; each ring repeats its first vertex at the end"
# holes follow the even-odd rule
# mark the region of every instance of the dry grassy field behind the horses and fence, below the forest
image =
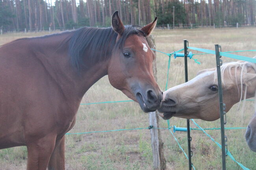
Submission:
MULTIPOLYGON (((21 37, 34 37, 45 33, 13 33, 0 36, 0 44, 21 37)), ((214 49, 220 44, 222 51, 256 49, 256 28, 223 29, 156 29, 156 48, 171 52, 183 48, 183 39, 189 40, 189 46, 214 49)), ((200 53, 193 51, 195 53, 200 53)), ((256 53, 243 52, 239 55, 248 57, 256 53)), ((195 77, 201 69, 215 67, 214 55, 197 55, 201 65, 188 61, 189 79, 195 77)), ((223 57, 224 62, 234 61, 223 57)), ((168 57, 157 53, 158 84, 165 90, 168 57)), ((184 78, 184 60, 171 59, 169 86, 181 84, 184 78)), ((114 89, 103 77, 83 97, 82 103, 129 100, 120 91, 114 89)), ((246 127, 254 113, 254 103, 246 102, 244 123, 241 123, 241 111, 235 105, 227 113, 226 127, 246 127)), ((216 106, 217 107, 217 106, 216 106)), ((206 122, 195 120, 202 128, 220 127, 220 121, 206 122)), ((172 118, 170 124, 186 127, 186 119, 172 118)), ((70 133, 115 130, 124 128, 146 128, 149 126, 148 114, 141 111, 135 102, 117 104, 82 105, 77 114, 77 121, 70 133)), ((160 127, 167 127, 166 121, 160 119, 160 127)), ((196 126, 191 122, 191 127, 196 126)), ((220 130, 207 131, 217 142, 221 143, 220 130)), ((256 170, 256 153, 249 150, 245 142, 245 130, 226 130, 228 150, 235 159, 250 170, 256 170)), ((187 133, 174 133, 182 148, 187 152, 187 133)), ((204 133, 193 130, 191 142, 192 162, 197 170, 221 170, 221 149, 204 133)), ((164 154, 168 170, 186 170, 188 162, 168 130, 161 130, 164 142, 164 154)), ((0 150, 0 170, 26 169, 26 147, 0 150)), ((241 170, 230 158, 226 159, 227 170, 241 170)), ((67 170, 152 170, 152 152, 149 130, 90 133, 66 135, 66 169, 67 170)))

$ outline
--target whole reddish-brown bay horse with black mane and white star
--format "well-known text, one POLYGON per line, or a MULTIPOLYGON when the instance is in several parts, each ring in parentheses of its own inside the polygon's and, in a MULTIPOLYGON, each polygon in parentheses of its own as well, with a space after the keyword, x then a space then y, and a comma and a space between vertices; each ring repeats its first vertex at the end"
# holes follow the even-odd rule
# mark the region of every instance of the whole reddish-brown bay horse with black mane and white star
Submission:
POLYGON ((137 29, 116 11, 112 27, 22 38, 0 47, 0 149, 27 146, 27 170, 64 170, 65 133, 75 124, 85 92, 104 75, 139 102, 161 106, 155 58, 147 36, 156 19, 137 29))

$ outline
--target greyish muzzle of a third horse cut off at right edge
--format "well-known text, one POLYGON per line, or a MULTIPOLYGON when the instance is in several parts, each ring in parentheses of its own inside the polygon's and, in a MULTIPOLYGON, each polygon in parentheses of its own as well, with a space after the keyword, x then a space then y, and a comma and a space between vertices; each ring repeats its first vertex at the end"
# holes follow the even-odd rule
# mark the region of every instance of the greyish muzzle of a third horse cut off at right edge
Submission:
POLYGON ((246 142, 253 152, 256 152, 256 112, 250 120, 247 130, 245 132, 246 142))

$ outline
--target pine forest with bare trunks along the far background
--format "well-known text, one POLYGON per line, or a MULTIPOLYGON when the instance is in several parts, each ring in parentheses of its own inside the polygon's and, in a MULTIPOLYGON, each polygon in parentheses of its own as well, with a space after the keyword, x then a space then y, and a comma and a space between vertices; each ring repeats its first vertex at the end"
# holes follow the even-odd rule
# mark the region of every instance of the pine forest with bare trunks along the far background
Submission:
POLYGON ((256 0, 0 0, 0 29, 108 27, 116 10, 126 25, 143 26, 155 16, 158 27, 250 26, 256 21, 256 0))

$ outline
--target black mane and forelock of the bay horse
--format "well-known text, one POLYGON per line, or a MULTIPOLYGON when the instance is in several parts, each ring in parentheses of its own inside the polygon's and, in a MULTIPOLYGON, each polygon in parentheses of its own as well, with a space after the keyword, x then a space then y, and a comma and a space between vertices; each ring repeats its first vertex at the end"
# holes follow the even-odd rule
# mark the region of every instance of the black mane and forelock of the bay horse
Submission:
POLYGON ((122 37, 116 42, 117 33, 112 27, 83 27, 74 31, 69 41, 69 56, 74 67, 80 69, 105 60, 113 49, 122 49, 125 40, 134 34, 145 36, 136 26, 125 26, 122 37))

